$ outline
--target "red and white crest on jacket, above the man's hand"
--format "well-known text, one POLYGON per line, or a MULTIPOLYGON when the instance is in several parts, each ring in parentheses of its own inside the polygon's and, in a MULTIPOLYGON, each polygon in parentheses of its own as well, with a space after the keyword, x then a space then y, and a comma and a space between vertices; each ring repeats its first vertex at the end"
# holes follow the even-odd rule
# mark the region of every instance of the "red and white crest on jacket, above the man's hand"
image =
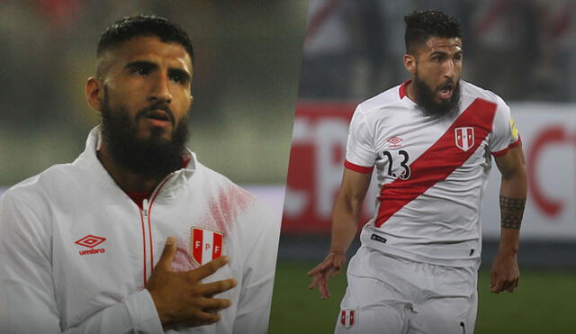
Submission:
POLYGON ((222 256, 224 235, 213 230, 193 227, 191 230, 192 258, 198 266, 222 256))

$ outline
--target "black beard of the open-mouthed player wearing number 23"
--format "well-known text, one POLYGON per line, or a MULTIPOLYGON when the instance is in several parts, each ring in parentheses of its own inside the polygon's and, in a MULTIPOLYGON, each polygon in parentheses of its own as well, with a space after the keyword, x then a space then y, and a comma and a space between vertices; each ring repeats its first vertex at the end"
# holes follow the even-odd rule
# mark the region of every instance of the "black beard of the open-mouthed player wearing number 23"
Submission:
POLYGON ((424 81, 419 79, 418 74, 414 76, 412 83, 414 84, 416 104, 423 115, 438 119, 444 116, 454 117, 458 113, 460 109, 460 82, 455 84, 452 97, 440 104, 436 102, 436 90, 430 89, 424 81))

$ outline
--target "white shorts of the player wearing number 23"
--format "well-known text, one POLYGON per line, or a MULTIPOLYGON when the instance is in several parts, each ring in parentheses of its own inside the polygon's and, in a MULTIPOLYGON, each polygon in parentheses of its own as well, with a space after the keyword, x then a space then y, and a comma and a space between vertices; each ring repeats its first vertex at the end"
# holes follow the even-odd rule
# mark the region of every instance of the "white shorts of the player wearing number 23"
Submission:
POLYGON ((337 334, 472 334, 478 266, 437 266, 361 247, 350 260, 337 334))

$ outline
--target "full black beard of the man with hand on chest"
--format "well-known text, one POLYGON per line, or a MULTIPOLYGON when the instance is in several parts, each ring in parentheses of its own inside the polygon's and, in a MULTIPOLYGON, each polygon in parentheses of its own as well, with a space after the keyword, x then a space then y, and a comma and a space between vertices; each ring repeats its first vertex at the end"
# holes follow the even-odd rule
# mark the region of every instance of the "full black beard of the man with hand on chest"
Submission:
POLYGON ((134 122, 130 122, 129 113, 125 108, 120 107, 112 111, 106 88, 104 87, 101 112, 102 138, 114 163, 131 173, 155 179, 162 179, 180 169, 184 145, 188 140, 186 119, 175 126, 172 140, 162 138, 160 129, 154 129, 147 139, 138 139, 136 124, 146 113, 154 109, 164 109, 170 115, 173 124, 174 114, 166 105, 155 104, 140 110, 134 122))

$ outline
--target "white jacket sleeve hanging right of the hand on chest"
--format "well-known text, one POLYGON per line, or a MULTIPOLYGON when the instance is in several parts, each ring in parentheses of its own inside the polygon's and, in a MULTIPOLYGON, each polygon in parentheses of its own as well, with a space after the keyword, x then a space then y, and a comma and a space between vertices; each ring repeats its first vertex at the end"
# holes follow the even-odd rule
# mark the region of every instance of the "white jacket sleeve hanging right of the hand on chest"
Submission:
POLYGON ((235 334, 268 332, 280 221, 265 205, 252 206, 238 224, 244 261, 235 334))

